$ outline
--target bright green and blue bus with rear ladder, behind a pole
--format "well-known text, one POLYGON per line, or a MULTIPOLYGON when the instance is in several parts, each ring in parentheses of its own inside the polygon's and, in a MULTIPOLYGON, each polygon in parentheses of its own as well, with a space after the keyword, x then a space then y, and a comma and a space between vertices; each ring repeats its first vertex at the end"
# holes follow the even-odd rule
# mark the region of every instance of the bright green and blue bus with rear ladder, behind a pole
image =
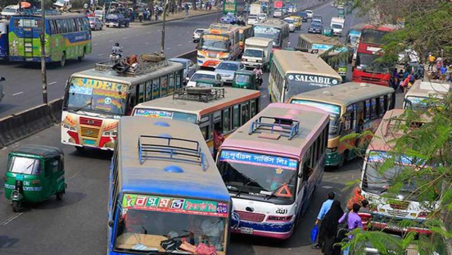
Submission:
MULTIPOLYGON (((42 19, 37 15, 13 16, 8 31, 10 61, 40 62, 42 19)), ((45 18, 46 62, 82 61, 91 53, 91 30, 84 15, 51 15, 45 18)))

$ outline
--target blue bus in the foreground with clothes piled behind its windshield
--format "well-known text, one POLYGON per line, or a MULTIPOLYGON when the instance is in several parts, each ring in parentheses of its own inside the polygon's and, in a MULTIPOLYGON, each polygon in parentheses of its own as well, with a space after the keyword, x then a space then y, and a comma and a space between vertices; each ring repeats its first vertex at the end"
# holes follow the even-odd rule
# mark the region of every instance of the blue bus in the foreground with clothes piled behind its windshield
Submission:
POLYGON ((115 146, 108 254, 227 253, 231 197, 197 125, 125 116, 115 146))

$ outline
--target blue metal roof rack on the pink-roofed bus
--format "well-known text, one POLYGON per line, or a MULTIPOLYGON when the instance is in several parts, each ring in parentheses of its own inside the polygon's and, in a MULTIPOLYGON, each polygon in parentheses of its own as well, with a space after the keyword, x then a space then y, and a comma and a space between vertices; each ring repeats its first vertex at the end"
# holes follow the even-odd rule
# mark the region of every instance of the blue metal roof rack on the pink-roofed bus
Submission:
POLYGON ((249 134, 262 133, 263 130, 269 130, 271 134, 262 135, 262 138, 277 140, 279 136, 286 136, 291 140, 298 134, 299 129, 300 122, 298 120, 261 116, 251 123, 249 134), (272 120, 273 123, 264 122, 264 120, 272 120))

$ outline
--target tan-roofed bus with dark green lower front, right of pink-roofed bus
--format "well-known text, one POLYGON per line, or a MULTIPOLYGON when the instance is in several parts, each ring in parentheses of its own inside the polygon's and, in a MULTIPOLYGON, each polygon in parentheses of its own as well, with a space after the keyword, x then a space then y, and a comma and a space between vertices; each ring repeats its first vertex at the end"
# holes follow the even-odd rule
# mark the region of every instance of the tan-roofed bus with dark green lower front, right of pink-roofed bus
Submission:
POLYGON ((394 109, 394 89, 370 83, 346 82, 331 88, 292 97, 291 104, 317 107, 329 113, 329 135, 325 165, 342 166, 359 155, 351 146, 366 149, 367 139, 341 141, 350 133, 377 130, 386 111, 394 109))

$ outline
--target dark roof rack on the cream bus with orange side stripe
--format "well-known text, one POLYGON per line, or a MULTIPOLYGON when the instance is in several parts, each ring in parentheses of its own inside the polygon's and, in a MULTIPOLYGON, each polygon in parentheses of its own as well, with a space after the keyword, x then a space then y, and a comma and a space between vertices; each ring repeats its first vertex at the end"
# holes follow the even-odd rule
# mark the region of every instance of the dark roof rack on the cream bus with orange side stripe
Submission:
POLYGON ((217 100, 224 98, 223 88, 195 88, 187 87, 178 89, 176 93, 173 94, 173 99, 198 101, 198 102, 210 102, 212 100, 217 100))

